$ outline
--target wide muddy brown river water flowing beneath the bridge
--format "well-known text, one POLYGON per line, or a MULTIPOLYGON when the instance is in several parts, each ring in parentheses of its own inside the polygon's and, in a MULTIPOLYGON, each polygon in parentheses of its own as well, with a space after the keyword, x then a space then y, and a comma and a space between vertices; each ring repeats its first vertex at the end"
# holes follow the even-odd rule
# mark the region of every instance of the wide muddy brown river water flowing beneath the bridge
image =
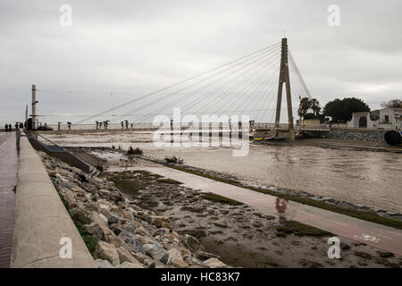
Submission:
POLYGON ((223 147, 156 148, 149 134, 48 135, 62 146, 141 147, 145 155, 179 156, 185 164, 265 186, 402 212, 402 155, 311 146, 250 145, 247 156, 223 147))

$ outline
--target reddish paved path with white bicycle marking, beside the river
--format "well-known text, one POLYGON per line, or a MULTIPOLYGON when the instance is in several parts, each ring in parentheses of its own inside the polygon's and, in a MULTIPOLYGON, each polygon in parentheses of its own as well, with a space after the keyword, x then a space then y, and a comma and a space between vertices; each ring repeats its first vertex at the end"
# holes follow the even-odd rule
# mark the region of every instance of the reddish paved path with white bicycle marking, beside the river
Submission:
POLYGON ((154 172, 163 177, 180 181, 188 188, 200 189, 235 199, 248 206, 255 207, 261 213, 281 215, 289 220, 305 223, 402 256, 402 230, 333 213, 322 208, 287 201, 283 198, 276 198, 251 189, 240 188, 168 167, 130 167, 124 168, 124 170, 154 172))

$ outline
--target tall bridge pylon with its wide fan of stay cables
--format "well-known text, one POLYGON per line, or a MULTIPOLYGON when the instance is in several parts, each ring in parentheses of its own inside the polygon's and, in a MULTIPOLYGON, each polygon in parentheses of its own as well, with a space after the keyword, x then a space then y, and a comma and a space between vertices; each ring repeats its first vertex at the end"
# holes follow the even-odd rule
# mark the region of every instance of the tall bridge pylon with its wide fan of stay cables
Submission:
MULTIPOLYGON (((56 115, 36 113, 36 94, 58 91, 32 89, 35 89, 32 91, 35 97, 32 100, 33 124, 38 116, 46 120, 46 117, 56 115)), ((289 130, 290 139, 294 139, 298 104, 292 105, 292 101, 298 103, 300 97, 311 96, 289 51, 288 40, 282 38, 279 43, 209 71, 71 122, 72 126, 106 122, 109 128, 113 124, 127 126, 126 122, 130 122, 130 127, 147 126, 155 116, 164 114, 172 118, 173 108, 180 108, 182 117, 248 115, 256 128, 270 126, 271 129, 270 123, 274 122, 275 135, 279 130, 289 130), (284 105, 282 93, 286 94, 284 105), (287 114, 287 125, 281 124, 281 114, 287 114)))

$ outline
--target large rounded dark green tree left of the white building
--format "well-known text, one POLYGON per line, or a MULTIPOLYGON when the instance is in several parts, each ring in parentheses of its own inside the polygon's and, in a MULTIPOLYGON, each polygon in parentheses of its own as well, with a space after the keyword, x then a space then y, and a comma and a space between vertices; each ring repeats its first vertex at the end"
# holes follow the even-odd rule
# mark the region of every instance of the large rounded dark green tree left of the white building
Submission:
POLYGON ((328 102, 323 109, 323 115, 331 116, 332 122, 348 122, 356 112, 370 112, 370 107, 356 97, 346 97, 328 102))

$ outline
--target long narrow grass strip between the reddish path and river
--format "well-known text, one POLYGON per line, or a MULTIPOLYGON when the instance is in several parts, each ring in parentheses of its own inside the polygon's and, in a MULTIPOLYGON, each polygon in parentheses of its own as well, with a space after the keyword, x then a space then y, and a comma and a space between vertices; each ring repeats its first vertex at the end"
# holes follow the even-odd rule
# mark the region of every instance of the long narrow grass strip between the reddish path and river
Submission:
POLYGON ((297 196, 294 196, 294 195, 281 194, 279 192, 276 192, 276 191, 270 190, 270 189, 259 189, 259 188, 250 187, 250 186, 243 186, 243 185, 241 185, 239 183, 239 181, 234 181, 234 180, 230 180, 230 179, 223 179, 223 178, 215 177, 215 176, 213 176, 211 174, 208 174, 208 173, 188 170, 188 169, 186 169, 186 168, 184 168, 182 166, 177 166, 177 165, 173 166, 173 165, 168 165, 168 164, 165 164, 165 166, 167 166, 169 168, 172 168, 172 169, 182 171, 182 172, 189 172, 189 173, 201 176, 201 177, 212 179, 214 181, 222 181, 222 182, 230 184, 230 185, 242 187, 242 188, 245 188, 245 189, 255 190, 255 191, 258 191, 260 193, 272 195, 272 196, 275 196, 275 197, 278 197, 278 198, 286 198, 288 200, 295 201, 297 203, 305 204, 305 205, 308 205, 308 206, 319 207, 319 208, 326 209, 326 210, 329 210, 329 211, 334 212, 334 213, 346 214, 348 216, 356 217, 356 218, 359 218, 359 219, 367 221, 367 222, 380 223, 380 224, 383 224, 383 225, 387 225, 387 226, 394 227, 396 229, 402 230, 402 222, 397 221, 397 220, 393 220, 391 218, 383 217, 383 216, 381 216, 379 214, 375 214, 373 212, 360 211, 360 210, 356 210, 356 209, 349 208, 349 207, 332 206, 332 205, 329 205, 329 204, 326 204, 326 203, 323 203, 323 202, 316 201, 316 200, 311 199, 311 198, 301 198, 301 197, 297 197, 297 196))

